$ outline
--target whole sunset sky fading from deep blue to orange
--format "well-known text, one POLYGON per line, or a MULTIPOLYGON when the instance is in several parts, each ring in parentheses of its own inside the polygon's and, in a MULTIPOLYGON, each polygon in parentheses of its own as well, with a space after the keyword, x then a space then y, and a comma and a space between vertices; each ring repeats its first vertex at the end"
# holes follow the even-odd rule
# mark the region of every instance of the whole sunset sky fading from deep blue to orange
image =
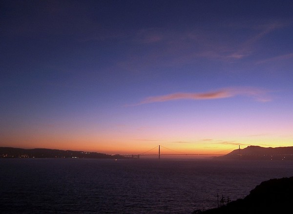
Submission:
POLYGON ((1 0, 0 146, 293 146, 292 11, 290 0, 1 0))

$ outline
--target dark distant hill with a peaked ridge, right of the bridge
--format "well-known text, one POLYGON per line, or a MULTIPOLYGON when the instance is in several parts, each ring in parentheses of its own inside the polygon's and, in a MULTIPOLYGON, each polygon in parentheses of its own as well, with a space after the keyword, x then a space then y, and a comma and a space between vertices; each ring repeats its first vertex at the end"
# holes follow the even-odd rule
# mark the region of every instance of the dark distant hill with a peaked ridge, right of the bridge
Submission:
POLYGON ((246 160, 293 160, 293 147, 265 148, 259 146, 249 146, 245 149, 233 150, 226 155, 216 158, 246 160))

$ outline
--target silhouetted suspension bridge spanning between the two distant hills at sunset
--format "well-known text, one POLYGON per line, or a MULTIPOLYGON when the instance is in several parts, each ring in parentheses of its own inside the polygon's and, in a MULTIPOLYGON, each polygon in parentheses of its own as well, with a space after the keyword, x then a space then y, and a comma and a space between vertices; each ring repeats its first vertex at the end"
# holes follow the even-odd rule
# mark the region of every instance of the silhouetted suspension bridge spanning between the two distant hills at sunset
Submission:
MULTIPOLYGON (((233 147, 231 149, 228 149, 228 150, 233 150, 233 149, 236 149, 236 147, 233 147)), ((238 149, 240 150, 240 145, 238 147, 238 149)), ((228 151, 228 150, 222 150, 222 151, 219 151, 219 152, 224 152, 224 151, 228 151)), ((167 147, 163 147, 162 145, 158 145, 150 150, 147 150, 145 152, 142 152, 140 154, 124 154, 123 156, 125 157, 129 157, 129 158, 133 158, 133 159, 139 159, 140 156, 158 156, 158 158, 160 159, 161 156, 165 156, 165 155, 181 155, 181 156, 184 156, 184 155, 225 155, 225 154, 219 154, 219 152, 216 152, 216 153, 183 153, 183 152, 179 152, 179 151, 176 151, 176 150, 171 150, 171 149, 168 149, 167 147), (169 150, 169 151, 172 151, 172 152, 175 152, 175 153, 161 153, 161 148, 165 149, 165 150, 169 150), (150 151, 154 151, 154 150, 157 150, 158 153, 148 153, 150 151)))

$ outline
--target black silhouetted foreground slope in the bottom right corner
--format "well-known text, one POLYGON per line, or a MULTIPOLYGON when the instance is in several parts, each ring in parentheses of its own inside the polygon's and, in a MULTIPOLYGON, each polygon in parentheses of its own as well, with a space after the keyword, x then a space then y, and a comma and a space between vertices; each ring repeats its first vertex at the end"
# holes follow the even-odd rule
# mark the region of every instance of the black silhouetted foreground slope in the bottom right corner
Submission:
POLYGON ((196 210, 192 214, 279 214, 291 213, 293 177, 263 181, 244 199, 231 201, 220 208, 196 210))

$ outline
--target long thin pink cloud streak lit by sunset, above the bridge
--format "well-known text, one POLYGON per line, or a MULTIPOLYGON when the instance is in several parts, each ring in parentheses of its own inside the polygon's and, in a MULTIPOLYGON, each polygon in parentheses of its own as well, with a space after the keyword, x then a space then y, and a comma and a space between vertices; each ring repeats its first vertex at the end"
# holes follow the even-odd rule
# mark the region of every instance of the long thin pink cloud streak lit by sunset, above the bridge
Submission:
POLYGON ((271 101, 267 96, 268 91, 254 87, 230 87, 223 88, 217 91, 203 92, 203 93, 173 93, 162 96, 147 97, 136 105, 143 105, 149 103, 167 102, 172 100, 211 100, 224 99, 235 96, 249 96, 259 102, 271 101))

